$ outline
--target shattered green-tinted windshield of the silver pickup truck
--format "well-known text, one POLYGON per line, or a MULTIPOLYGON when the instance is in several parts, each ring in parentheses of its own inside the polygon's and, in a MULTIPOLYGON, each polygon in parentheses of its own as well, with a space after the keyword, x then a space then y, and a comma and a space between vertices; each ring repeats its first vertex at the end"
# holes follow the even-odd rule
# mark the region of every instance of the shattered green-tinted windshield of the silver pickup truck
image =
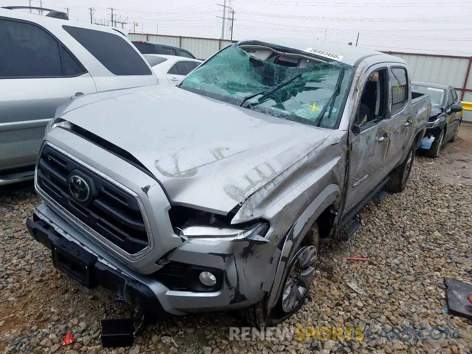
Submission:
POLYGON ((286 54, 261 60, 233 44, 186 76, 180 87, 274 117, 334 128, 352 67, 300 56, 287 61, 286 54), (260 94, 247 99, 254 93, 260 94))

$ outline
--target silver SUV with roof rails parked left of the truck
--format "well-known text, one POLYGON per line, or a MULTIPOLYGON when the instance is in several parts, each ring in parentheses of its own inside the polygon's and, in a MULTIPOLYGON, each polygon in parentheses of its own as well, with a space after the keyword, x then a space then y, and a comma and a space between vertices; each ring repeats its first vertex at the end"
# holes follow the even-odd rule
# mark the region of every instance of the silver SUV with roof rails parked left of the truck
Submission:
MULTIPOLYGON (((157 84, 118 30, 0 8, 0 185, 32 178, 58 106, 97 91, 157 84)), ((34 8, 37 9, 37 8, 34 8)))

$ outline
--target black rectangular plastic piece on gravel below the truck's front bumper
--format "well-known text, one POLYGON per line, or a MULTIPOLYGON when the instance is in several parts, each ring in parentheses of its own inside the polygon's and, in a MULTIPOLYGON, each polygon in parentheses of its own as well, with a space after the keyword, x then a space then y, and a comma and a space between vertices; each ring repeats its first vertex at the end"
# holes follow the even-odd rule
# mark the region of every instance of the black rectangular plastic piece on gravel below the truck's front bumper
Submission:
POLYGON ((135 340, 132 319, 101 320, 103 347, 132 346, 135 340))

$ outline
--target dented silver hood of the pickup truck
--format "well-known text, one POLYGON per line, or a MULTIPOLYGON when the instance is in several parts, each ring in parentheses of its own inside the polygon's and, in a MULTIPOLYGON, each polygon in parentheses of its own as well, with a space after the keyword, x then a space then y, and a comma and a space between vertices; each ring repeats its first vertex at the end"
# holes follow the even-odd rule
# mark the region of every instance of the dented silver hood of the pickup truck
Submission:
POLYGON ((130 152, 172 202, 223 214, 331 134, 174 86, 87 95, 65 111, 130 152))

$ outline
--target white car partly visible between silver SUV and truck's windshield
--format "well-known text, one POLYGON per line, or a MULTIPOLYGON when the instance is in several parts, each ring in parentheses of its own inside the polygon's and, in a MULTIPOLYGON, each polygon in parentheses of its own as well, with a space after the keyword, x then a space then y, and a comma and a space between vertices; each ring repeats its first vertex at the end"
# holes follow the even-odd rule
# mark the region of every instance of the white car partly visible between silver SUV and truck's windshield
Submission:
POLYGON ((203 60, 178 57, 176 55, 143 54, 157 75, 160 85, 176 85, 203 60))

